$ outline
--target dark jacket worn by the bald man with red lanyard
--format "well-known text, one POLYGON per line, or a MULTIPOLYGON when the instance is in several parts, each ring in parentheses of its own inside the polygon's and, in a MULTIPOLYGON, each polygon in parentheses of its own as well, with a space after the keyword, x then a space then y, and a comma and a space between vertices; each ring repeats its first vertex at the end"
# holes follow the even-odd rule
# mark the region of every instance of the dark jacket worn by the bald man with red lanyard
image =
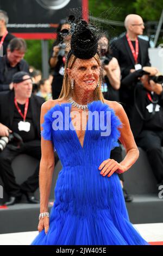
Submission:
MULTIPOLYGON (((148 48, 149 42, 138 38, 139 40, 139 64, 143 66, 151 66, 148 48)), ((135 69, 135 60, 130 50, 126 35, 122 36, 111 43, 112 56, 114 56, 120 65, 122 78, 129 74, 130 69, 135 69)))

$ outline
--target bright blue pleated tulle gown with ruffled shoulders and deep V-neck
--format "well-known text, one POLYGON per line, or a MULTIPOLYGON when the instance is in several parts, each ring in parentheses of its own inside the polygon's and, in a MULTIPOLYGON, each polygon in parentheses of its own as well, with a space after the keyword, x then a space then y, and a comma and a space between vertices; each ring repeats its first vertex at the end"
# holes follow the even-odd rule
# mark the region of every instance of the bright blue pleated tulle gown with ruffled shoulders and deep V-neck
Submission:
POLYGON ((92 128, 99 124, 99 129, 90 129, 89 116, 82 147, 75 130, 54 129, 56 111, 62 113, 59 119, 63 126, 73 127, 71 106, 71 103, 55 105, 46 113, 42 125, 42 136, 53 142, 62 169, 55 186, 48 233, 42 230, 32 245, 148 245, 129 221, 118 175, 102 176, 98 169, 118 145, 120 120, 105 103, 89 103, 91 112, 103 111, 103 117, 106 112, 111 113, 107 124, 111 123, 111 133, 101 135, 103 117, 97 115, 92 118, 92 128))

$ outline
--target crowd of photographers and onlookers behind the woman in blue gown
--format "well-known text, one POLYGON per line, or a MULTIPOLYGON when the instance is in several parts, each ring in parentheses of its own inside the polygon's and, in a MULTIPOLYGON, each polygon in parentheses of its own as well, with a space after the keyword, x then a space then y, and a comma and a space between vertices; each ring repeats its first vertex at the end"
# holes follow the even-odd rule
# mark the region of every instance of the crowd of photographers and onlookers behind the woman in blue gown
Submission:
MULTIPOLYGON (((24 55, 26 42, 7 31, 8 15, 0 10, 0 177, 9 199, 5 205, 20 202, 25 194, 29 203, 39 203, 34 192, 39 187, 39 164, 32 176, 18 185, 11 162, 22 153, 40 161, 40 109, 43 102, 58 99, 64 77, 64 65, 70 51, 73 20, 62 21, 54 42, 49 66, 52 75, 42 79, 41 72, 29 66, 24 55), (2 52, 2 51, 1 51, 2 52), (12 135, 12 138, 11 138, 12 135), (6 141, 6 137, 9 141, 6 141), (4 139, 2 139, 4 138, 4 139), (14 139, 13 139, 14 138, 14 139), (4 141, 4 142, 3 142, 4 141)), ((126 33, 110 40, 102 33, 98 40, 103 83, 101 90, 106 100, 120 102, 130 121, 135 141, 147 152, 158 186, 163 185, 163 91, 159 70, 151 66, 149 42, 139 38, 145 25, 139 15, 127 15, 126 33)), ((55 154, 55 163, 58 156, 55 154)), ((122 148, 111 151, 111 159, 122 161, 122 148)), ((119 174, 123 188, 124 177, 119 174)), ((126 202, 133 197, 123 188, 126 202)))

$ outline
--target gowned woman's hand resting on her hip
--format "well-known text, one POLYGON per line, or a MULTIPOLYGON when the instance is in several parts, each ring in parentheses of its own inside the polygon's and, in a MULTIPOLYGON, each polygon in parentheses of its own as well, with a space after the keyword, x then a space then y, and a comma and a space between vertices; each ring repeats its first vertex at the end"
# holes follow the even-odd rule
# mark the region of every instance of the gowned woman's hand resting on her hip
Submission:
POLYGON ((103 176, 106 176, 108 174, 108 177, 110 177, 114 172, 116 173, 124 173, 126 172, 127 168, 122 166, 122 164, 118 163, 114 159, 107 159, 104 160, 99 168, 101 170, 101 173, 103 176))

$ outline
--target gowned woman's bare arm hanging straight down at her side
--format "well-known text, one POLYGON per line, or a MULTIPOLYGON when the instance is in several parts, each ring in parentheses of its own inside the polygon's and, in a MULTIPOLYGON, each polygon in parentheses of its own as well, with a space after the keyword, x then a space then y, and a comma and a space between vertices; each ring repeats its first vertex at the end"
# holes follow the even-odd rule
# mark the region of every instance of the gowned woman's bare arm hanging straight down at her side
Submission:
MULTIPOLYGON (((44 115, 50 109, 49 101, 43 103, 41 106, 41 118, 40 124, 44 122, 44 115)), ((41 131, 43 130, 41 126, 41 131)), ((48 212, 48 200, 52 185, 52 176, 54 172, 54 150, 53 143, 46 141, 41 137, 41 161, 40 161, 40 173, 39 173, 39 185, 40 185, 40 213, 48 212)), ((38 230, 42 231, 45 228, 45 232, 48 231, 48 218, 44 217, 40 220, 38 230)))

